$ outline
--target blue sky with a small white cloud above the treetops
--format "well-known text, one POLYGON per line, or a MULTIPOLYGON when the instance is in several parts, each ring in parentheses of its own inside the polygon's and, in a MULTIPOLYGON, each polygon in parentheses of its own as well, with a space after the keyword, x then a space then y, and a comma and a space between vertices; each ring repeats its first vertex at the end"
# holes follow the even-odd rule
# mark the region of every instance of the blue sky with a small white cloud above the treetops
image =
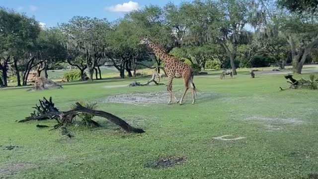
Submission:
POLYGON ((75 15, 107 18, 109 21, 123 17, 132 9, 145 5, 163 6, 168 2, 179 4, 190 0, 1 0, 0 6, 25 12, 48 27, 68 22, 75 15))

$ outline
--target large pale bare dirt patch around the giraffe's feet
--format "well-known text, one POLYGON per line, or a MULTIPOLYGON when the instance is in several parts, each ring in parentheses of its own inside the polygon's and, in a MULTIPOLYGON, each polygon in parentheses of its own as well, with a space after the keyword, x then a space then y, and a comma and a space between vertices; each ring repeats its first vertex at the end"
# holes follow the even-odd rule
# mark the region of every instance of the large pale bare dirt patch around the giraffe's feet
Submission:
MULTIPOLYGON (((174 94, 181 97, 183 90, 174 91, 174 94)), ((216 93, 211 92, 198 92, 197 101, 202 98, 216 96, 216 93)), ((113 96, 108 96, 102 100, 102 102, 112 102, 112 103, 126 103, 126 104, 159 104, 167 103, 169 99, 169 93, 167 91, 152 91, 152 92, 130 92, 124 94, 116 94, 113 96)), ((192 96, 191 92, 187 92, 184 97, 184 102, 191 102, 192 96)), ((176 103, 176 101, 174 101, 176 103)))

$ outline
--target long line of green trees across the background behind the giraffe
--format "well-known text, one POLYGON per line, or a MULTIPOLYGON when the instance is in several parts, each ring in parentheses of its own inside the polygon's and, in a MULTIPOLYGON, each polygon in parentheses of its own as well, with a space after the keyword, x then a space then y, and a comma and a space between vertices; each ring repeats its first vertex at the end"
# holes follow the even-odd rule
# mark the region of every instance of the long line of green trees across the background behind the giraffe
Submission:
MULTIPOLYGON (((100 66, 114 66, 121 78, 138 68, 162 66, 139 41, 148 35, 166 53, 194 69, 303 65, 318 57, 316 0, 194 0, 156 5, 107 19, 74 16, 41 28, 34 17, 0 8, 0 86, 9 76, 27 85, 28 74, 68 63, 81 80, 101 79, 100 66), (297 2, 297 3, 296 3, 297 2)), ((159 68, 158 68, 159 69, 159 68)))

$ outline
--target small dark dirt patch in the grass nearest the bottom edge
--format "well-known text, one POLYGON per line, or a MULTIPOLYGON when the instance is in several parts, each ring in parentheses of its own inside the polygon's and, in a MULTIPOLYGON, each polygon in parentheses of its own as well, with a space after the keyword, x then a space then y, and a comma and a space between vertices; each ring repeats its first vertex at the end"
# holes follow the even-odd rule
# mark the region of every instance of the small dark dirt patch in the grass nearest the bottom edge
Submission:
POLYGON ((148 162, 145 167, 159 169, 159 168, 168 168, 173 167, 175 165, 179 165, 185 161, 184 157, 168 157, 159 159, 157 161, 148 162))

